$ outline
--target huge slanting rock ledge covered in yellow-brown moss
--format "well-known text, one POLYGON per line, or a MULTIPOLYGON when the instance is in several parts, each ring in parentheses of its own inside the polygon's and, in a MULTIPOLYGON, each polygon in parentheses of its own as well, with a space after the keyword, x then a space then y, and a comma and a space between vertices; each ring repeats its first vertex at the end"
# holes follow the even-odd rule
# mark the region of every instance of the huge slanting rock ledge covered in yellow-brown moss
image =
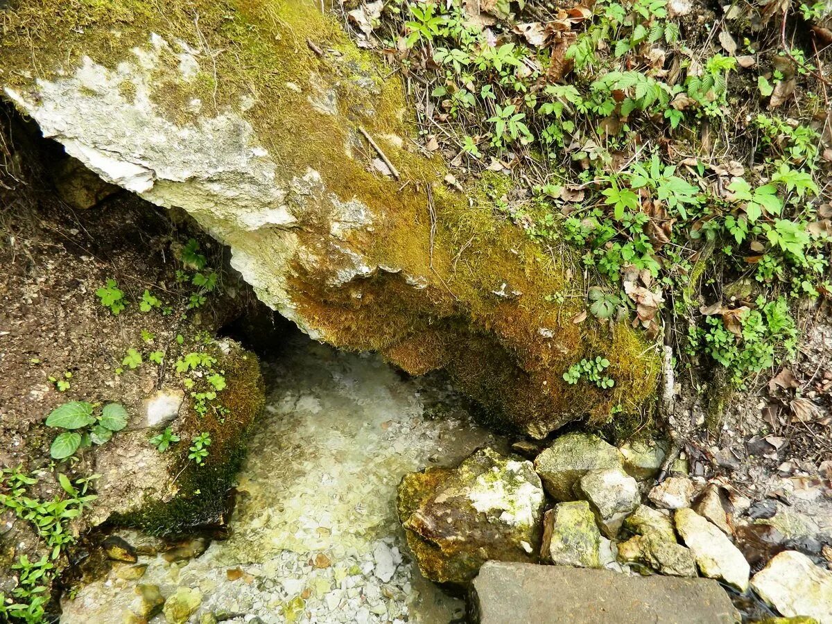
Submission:
POLYGON ((187 210, 314 338, 444 367, 536 437, 651 398, 651 349, 573 323, 581 297, 547 301, 577 290, 569 258, 443 185, 408 139, 399 78, 314 2, 12 0, 0 17, 7 97, 107 181, 187 210), (612 390, 563 381, 600 354, 612 390))

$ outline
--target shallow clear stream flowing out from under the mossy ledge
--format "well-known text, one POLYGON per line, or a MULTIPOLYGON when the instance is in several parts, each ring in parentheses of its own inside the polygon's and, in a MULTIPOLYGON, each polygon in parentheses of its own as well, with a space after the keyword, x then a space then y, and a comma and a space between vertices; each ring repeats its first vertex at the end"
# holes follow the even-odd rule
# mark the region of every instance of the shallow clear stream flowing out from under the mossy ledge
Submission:
POLYGON ((425 581, 409 559, 396 486, 409 471, 458 463, 495 442, 493 434, 470 421, 441 379, 404 379, 374 355, 299 334, 264 365, 266 414, 240 474, 230 538, 186 562, 140 557, 148 567, 138 580, 119 578, 116 564, 63 603, 62 622, 121 624, 137 583, 156 584, 163 596, 199 589, 192 622, 206 612, 267 623, 463 616, 463 602, 425 581))

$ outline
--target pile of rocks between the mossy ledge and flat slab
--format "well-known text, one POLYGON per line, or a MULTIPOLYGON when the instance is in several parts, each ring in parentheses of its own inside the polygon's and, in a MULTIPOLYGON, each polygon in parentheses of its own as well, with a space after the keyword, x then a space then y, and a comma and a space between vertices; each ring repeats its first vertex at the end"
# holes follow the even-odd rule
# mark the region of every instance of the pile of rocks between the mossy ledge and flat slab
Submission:
POLYGON ((786 551, 750 578, 718 484, 675 475, 654 485, 665 453, 585 433, 527 453, 533 462, 481 449, 455 470, 405 477, 399 515, 419 567, 438 582, 468 582, 489 559, 701 576, 752 587, 784 616, 832 622, 832 572, 786 551))

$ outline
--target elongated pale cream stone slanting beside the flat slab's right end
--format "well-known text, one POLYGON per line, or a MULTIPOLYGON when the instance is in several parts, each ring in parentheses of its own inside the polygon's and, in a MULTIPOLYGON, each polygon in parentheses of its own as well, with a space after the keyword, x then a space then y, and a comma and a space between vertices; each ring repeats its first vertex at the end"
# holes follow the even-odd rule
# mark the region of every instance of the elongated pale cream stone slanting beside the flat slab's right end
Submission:
POLYGON ((721 579, 745 592, 750 566, 716 525, 692 509, 680 509, 676 512, 676 531, 693 552, 703 576, 721 579))

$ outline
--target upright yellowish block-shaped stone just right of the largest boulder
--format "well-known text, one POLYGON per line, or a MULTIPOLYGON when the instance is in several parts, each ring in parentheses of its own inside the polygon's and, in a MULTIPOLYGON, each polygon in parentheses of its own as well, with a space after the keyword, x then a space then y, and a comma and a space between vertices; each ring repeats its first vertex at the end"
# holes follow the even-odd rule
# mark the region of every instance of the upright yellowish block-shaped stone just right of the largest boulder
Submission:
POLYGON ((601 567, 601 532, 586 501, 557 503, 543 516, 542 558, 557 566, 601 567))

